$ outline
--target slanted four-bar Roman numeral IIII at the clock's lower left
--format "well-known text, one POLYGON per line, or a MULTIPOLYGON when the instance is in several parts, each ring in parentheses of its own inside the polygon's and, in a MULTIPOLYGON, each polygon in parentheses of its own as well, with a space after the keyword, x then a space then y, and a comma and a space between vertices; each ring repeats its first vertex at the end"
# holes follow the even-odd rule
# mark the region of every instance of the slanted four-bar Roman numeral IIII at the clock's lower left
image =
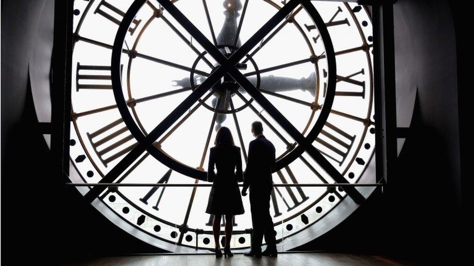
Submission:
POLYGON ((130 152, 137 144, 135 142, 129 146, 124 145, 126 142, 133 140, 134 137, 128 131, 128 128, 124 123, 123 127, 119 126, 122 123, 123 120, 120 118, 117 121, 105 125, 97 131, 94 131, 92 133, 87 132, 87 138, 89 138, 92 148, 94 148, 95 153, 97 154, 97 156, 99 156, 99 159, 102 161, 105 167, 107 167, 107 164, 111 161, 130 152), (122 133, 125 132, 128 133, 125 134, 125 137, 119 137, 122 133), (119 139, 116 140, 116 138, 118 137, 119 139), (99 140, 94 141, 94 139, 99 140))

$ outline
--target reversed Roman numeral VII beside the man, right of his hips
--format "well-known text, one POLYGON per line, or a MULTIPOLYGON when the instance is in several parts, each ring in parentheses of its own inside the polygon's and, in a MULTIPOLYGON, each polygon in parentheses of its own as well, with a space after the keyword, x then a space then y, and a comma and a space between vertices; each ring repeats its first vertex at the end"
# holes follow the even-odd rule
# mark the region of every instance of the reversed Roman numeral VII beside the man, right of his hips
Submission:
MULTIPOLYGON (((287 172, 288 177, 291 179, 291 182, 293 184, 298 184, 298 181, 296 180, 295 175, 293 174, 293 172, 291 171, 289 166, 285 166, 285 171, 287 172)), ((283 172, 281 170, 277 171, 276 173, 278 174, 278 177, 280 178, 280 180, 282 181, 283 184, 288 184, 288 181, 287 181, 285 175, 283 174, 283 172)), ((301 187, 294 187, 294 188, 286 187, 289 199, 287 199, 283 195, 283 193, 280 191, 279 188, 275 187, 271 191, 271 203, 273 205, 273 211, 275 212, 275 215, 273 217, 278 217, 278 216, 282 215, 282 213, 280 211, 280 208, 278 207, 278 201, 276 199, 275 190, 278 193, 278 195, 280 196, 280 198, 283 200, 283 203, 285 203, 285 205, 287 206, 287 211, 290 211, 290 210, 298 207, 299 205, 304 203, 307 199, 309 199, 309 197, 305 195, 305 192, 303 191, 303 189, 301 187), (299 199, 295 195, 295 190, 298 193, 298 195, 300 196, 299 198, 301 198, 301 199, 299 199)))

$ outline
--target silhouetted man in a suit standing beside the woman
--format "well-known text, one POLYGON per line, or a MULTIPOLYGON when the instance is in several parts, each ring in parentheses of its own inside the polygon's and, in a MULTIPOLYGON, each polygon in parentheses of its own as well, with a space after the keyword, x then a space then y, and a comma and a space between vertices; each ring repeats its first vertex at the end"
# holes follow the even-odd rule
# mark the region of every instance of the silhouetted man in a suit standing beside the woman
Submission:
POLYGON ((275 170, 275 147, 263 136, 261 122, 252 123, 255 140, 250 141, 247 168, 245 170, 242 196, 250 187, 250 211, 254 233, 250 252, 246 256, 277 256, 275 231, 270 215, 271 173, 275 170), (262 252, 262 238, 265 235, 267 249, 262 252))

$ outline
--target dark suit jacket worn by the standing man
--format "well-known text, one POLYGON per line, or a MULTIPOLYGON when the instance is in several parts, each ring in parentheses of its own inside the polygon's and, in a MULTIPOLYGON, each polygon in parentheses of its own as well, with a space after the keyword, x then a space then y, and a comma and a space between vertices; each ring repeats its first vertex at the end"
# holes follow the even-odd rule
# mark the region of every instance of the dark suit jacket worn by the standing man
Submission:
POLYGON ((244 175, 244 188, 271 189, 271 173, 275 171, 275 146, 259 135, 250 141, 247 168, 244 175))

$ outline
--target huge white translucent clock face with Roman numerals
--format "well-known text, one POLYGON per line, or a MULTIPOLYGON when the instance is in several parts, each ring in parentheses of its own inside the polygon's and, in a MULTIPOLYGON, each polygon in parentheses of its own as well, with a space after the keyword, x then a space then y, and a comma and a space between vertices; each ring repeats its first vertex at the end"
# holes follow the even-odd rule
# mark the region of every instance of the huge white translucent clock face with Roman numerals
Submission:
MULTIPOLYGON (((214 52, 230 61, 285 4, 176 0, 171 5, 214 52)), ((229 127, 242 147, 245 169, 253 121, 262 121, 265 136, 275 145, 275 184, 340 183, 340 178, 357 183, 363 175, 364 180, 373 180, 373 171, 367 171, 375 146, 370 13, 352 3, 309 4, 314 12, 296 5, 235 64, 296 130, 292 131, 235 75, 224 71, 215 78, 222 71, 222 58, 193 38, 195 32, 190 33, 166 3, 167 8, 157 0, 75 1, 70 154, 77 175, 71 174, 72 181, 101 181, 207 83, 202 95, 173 115, 172 123, 113 182, 207 184, 208 150, 221 126, 229 127), (318 19, 322 19, 319 26, 318 19), (339 179, 321 158, 294 140, 295 132, 339 172, 339 179)), ((212 217, 204 212, 209 190, 115 187, 103 190, 95 205, 108 219, 152 245, 205 250, 214 246, 212 217)), ((337 219, 328 227, 323 218, 330 213, 346 217, 341 203, 349 196, 343 188, 274 188, 271 214, 277 240, 303 244, 310 240, 301 236, 309 228, 335 226, 337 219)), ((250 205, 248 198, 243 200, 245 214, 233 221, 234 249, 250 246, 250 205)))

